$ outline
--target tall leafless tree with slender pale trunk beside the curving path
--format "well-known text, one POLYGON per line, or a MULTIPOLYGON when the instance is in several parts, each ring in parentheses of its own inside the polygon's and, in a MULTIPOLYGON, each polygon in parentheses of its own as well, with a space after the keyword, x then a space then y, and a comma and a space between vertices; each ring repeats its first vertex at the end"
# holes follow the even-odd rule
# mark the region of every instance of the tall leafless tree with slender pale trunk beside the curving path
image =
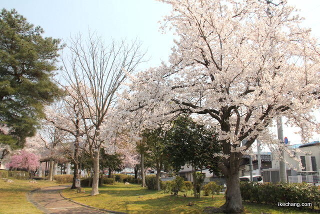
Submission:
POLYGON ((124 40, 106 46, 96 34, 89 34, 85 41, 77 35, 69 40, 70 55, 62 60, 65 81, 76 93, 74 99, 80 106, 87 152, 93 161, 91 195, 99 194, 99 150, 110 143, 101 138, 100 127, 116 106, 116 92, 126 79, 125 72, 132 73, 142 62, 140 46, 137 41, 126 45, 124 40))

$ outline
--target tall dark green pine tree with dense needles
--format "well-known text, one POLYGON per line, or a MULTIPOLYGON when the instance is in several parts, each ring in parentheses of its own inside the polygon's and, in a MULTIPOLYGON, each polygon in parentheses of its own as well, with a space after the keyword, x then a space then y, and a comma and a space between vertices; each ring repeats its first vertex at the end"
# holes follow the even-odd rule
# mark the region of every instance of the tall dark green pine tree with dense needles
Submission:
POLYGON ((21 147, 61 91, 52 77, 60 40, 43 38, 14 9, 0 13, 0 142, 21 147))

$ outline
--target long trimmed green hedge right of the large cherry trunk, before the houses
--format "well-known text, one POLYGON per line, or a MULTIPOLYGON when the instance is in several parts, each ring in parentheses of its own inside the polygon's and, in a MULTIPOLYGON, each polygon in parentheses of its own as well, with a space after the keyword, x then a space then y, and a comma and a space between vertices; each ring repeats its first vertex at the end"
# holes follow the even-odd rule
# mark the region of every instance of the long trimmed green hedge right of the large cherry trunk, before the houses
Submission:
POLYGON ((278 205, 278 203, 299 203, 299 208, 320 209, 318 186, 308 183, 239 183, 242 200, 278 205), (312 206, 301 206, 311 203, 312 206))

